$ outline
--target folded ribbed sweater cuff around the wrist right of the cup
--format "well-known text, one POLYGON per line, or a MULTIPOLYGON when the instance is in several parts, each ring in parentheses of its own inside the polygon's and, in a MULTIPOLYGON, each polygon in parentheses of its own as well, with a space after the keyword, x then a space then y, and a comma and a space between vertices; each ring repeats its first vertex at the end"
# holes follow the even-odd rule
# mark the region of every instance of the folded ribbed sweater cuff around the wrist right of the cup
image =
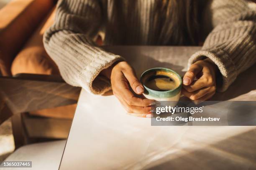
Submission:
POLYGON ((198 60, 202 60, 205 57, 210 58, 218 66, 220 73, 222 74, 222 84, 217 84, 217 91, 224 92, 228 89, 229 85, 236 80, 237 70, 227 53, 219 48, 213 48, 210 50, 201 50, 193 54, 188 61, 188 66, 198 60))

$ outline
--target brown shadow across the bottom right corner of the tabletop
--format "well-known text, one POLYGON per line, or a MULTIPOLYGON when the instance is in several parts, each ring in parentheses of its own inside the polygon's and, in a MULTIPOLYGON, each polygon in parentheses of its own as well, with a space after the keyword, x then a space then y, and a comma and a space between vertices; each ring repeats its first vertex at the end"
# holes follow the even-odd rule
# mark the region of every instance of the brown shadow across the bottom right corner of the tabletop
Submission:
MULTIPOLYGON (((179 156, 168 155, 162 163, 147 170, 255 170, 256 128, 195 150, 181 150, 179 156), (169 158, 168 158, 169 157, 169 158)), ((159 160, 158 160, 159 161, 159 160)), ((154 163, 153 163, 154 164, 154 163)), ((152 165, 152 164, 151 164, 152 165)))

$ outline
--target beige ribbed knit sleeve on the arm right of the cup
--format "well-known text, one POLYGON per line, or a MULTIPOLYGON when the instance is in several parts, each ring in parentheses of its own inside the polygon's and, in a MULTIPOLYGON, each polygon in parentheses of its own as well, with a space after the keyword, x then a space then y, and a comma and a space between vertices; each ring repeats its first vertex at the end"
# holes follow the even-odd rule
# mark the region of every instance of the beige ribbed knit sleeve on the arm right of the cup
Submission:
POLYGON ((213 28, 189 65, 209 57, 222 74, 218 91, 227 90, 237 75, 256 62, 256 11, 244 0, 213 0, 205 10, 204 28, 213 28))

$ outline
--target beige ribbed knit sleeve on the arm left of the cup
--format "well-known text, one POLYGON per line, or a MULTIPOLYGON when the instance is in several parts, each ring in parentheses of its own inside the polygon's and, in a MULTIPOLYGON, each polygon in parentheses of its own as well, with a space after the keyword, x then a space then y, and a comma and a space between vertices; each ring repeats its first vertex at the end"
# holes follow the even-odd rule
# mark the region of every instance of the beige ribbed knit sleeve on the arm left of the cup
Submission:
POLYGON ((98 76, 118 60, 92 41, 102 23, 98 0, 59 0, 54 25, 44 34, 44 47, 64 80, 94 94, 110 90, 110 81, 98 76))

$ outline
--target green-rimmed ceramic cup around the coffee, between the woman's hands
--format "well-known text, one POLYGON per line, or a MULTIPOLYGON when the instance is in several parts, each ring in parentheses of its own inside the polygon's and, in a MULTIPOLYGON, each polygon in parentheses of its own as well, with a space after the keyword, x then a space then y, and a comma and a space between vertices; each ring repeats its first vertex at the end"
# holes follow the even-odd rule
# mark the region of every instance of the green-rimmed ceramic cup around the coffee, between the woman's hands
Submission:
POLYGON ((153 99, 157 101, 179 101, 180 92, 182 89, 182 78, 174 70, 171 70, 168 68, 162 68, 162 67, 151 68, 141 74, 140 81, 144 86, 143 94, 148 99, 153 99), (154 76, 154 75, 171 75, 172 77, 174 77, 175 80, 178 81, 178 86, 172 90, 167 90, 167 91, 157 91, 157 90, 150 89, 145 84, 146 84, 146 81, 151 76, 154 76))

